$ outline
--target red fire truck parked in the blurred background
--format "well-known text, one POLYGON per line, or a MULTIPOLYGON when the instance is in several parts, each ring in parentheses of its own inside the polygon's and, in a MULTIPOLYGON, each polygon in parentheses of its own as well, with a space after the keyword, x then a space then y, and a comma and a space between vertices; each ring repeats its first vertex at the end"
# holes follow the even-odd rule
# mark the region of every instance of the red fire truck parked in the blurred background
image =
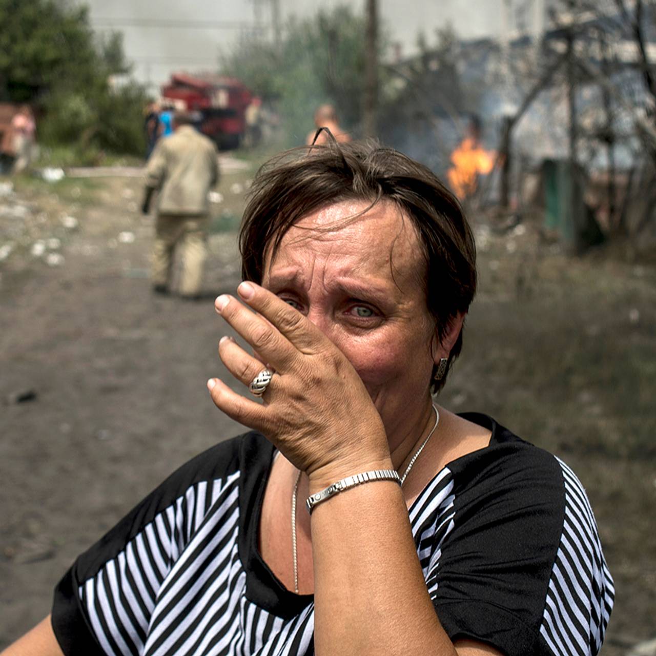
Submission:
POLYGON ((173 73, 162 97, 199 113, 199 129, 224 150, 237 148, 246 130, 245 110, 253 95, 236 78, 173 73))

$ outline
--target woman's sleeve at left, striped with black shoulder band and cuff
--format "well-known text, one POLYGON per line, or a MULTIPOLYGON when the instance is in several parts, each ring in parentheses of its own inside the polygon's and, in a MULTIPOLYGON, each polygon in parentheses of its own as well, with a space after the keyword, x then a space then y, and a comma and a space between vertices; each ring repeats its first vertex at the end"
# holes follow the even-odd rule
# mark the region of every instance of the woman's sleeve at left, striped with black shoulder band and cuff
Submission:
POLYGON ((237 503, 230 451, 223 443, 188 462, 75 561, 52 608, 67 656, 143 652, 161 586, 180 554, 209 515, 237 503))

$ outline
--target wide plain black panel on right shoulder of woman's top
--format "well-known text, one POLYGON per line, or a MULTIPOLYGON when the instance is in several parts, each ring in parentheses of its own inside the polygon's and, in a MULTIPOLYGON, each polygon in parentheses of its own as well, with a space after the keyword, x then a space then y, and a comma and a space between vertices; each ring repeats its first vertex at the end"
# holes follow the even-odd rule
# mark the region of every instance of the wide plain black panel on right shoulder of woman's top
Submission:
POLYGON ((488 422, 493 438, 448 465, 455 517, 438 567, 438 617, 452 639, 476 638, 509 656, 548 653, 536 641, 564 522, 560 464, 488 417, 464 418, 488 422))

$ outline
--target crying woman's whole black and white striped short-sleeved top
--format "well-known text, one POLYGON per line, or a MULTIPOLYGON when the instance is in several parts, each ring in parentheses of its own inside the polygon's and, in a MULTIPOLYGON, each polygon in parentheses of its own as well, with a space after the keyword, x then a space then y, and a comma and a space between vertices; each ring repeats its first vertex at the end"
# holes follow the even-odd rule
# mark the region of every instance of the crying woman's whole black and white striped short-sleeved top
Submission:
MULTIPOLYGON (((492 430, 489 447, 451 462, 409 511, 442 626, 510 656, 598 653, 614 590, 581 483, 489 417, 464 416, 492 430)), ((254 432, 220 443, 80 556, 55 591, 64 653, 313 653, 312 596, 258 553, 273 455, 254 432)))

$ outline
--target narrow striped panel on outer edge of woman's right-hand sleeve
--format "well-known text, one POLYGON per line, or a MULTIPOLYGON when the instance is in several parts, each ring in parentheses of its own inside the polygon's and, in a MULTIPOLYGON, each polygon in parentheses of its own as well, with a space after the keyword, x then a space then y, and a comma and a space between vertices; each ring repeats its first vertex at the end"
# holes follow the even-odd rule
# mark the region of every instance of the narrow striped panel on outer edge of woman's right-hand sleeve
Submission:
POLYGON ((583 486, 558 462, 565 484, 565 517, 540 632, 558 656, 592 656, 604 641, 615 588, 583 486))

